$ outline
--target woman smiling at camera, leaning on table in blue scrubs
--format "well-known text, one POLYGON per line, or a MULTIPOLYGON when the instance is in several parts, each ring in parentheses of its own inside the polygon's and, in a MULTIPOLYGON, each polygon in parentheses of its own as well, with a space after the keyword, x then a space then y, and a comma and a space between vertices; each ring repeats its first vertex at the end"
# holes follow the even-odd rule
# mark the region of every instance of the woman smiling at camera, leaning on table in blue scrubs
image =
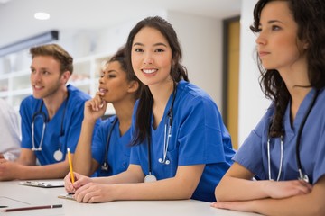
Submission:
POLYGON ((231 165, 231 139, 216 103, 188 82, 172 25, 160 17, 137 23, 125 46, 129 71, 143 83, 132 121, 130 166, 107 178, 75 174, 66 190, 78 202, 215 201, 231 165))

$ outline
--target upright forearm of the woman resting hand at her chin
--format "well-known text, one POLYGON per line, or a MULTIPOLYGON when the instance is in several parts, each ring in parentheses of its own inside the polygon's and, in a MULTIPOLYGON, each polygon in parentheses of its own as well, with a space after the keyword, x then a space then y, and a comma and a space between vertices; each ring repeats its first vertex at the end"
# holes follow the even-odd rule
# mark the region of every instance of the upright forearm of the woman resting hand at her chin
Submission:
POLYGON ((81 132, 75 153, 73 155, 73 171, 81 175, 92 175, 93 164, 91 155, 91 141, 95 121, 82 121, 81 132))

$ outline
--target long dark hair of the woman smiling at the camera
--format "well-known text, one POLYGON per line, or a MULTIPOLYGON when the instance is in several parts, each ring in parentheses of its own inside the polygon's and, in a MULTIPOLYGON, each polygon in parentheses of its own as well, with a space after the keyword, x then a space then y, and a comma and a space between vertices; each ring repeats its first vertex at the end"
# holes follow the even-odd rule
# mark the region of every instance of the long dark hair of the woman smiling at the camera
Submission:
MULTIPOLYGON (((131 62, 132 46, 135 39, 135 35, 144 27, 153 28, 160 31, 163 37, 168 41, 172 49, 172 68, 171 76, 173 82, 176 84, 181 79, 189 81, 186 67, 181 65, 181 44, 177 39, 176 31, 172 28, 172 24, 165 21, 162 17, 153 16, 147 17, 135 25, 130 31, 125 45, 125 56, 127 59, 127 67, 130 73, 135 74, 131 62)), ((140 85, 141 92, 139 98, 139 104, 136 112, 135 122, 135 134, 131 141, 131 145, 137 145, 148 138, 150 133, 150 118, 153 108, 153 94, 151 94, 147 85, 140 85)))

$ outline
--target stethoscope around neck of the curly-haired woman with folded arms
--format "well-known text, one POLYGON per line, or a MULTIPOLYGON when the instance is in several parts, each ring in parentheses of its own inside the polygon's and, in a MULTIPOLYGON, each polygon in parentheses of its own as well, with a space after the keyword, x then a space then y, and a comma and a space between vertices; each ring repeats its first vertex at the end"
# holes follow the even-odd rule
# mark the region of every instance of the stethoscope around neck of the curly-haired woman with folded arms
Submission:
MULTIPOLYGON (((308 118, 308 115, 311 112, 311 109, 312 109, 314 103, 316 102, 316 99, 317 99, 318 94, 319 94, 319 91, 317 90, 316 93, 314 94, 312 100, 311 100, 311 103, 310 103, 310 105, 308 107, 307 112, 303 116, 302 123, 301 123, 301 125, 299 127, 299 130, 298 130, 298 133, 297 133, 297 140, 296 140, 296 144, 295 144, 295 148, 296 148, 296 161, 297 161, 298 173, 299 173, 298 179, 299 180, 303 180, 303 181, 305 181, 307 183, 309 183, 309 177, 308 177, 308 175, 304 174, 303 171, 302 171, 302 161, 301 161, 301 158, 300 158, 299 149, 300 149, 300 144, 301 144, 301 137, 302 137, 302 129, 303 129, 303 126, 304 126, 304 124, 305 124, 305 122, 306 122, 306 120, 308 118)), ((269 126, 269 129, 270 128, 271 128, 271 124, 269 126)), ((279 181, 280 180, 281 172, 282 172, 282 169, 283 169, 283 136, 281 136, 280 139, 281 139, 281 141, 280 141, 280 166, 279 166, 278 175, 276 177, 276 181, 279 181)), ((271 176, 270 136, 267 139, 267 163, 268 163, 267 166, 268 166, 269 180, 273 180, 273 178, 271 176)))

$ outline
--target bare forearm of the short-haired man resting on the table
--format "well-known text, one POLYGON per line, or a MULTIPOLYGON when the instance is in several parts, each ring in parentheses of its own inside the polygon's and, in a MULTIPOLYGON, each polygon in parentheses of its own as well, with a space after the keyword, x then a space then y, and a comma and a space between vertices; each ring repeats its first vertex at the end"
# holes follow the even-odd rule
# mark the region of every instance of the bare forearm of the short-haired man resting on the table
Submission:
POLYGON ((17 178, 28 179, 55 179, 63 178, 69 173, 68 161, 46 166, 20 166, 17 178))

